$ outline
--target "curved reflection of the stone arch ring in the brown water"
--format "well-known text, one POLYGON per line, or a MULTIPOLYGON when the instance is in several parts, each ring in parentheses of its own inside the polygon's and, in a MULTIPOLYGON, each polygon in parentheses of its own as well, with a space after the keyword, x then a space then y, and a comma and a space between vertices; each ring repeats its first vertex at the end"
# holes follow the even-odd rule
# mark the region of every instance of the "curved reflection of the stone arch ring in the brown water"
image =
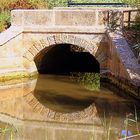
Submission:
POLYGON ((43 106, 33 94, 24 96, 25 100, 32 107, 33 111, 44 116, 46 121, 94 123, 96 120, 96 107, 91 104, 88 108, 74 113, 60 113, 43 106))

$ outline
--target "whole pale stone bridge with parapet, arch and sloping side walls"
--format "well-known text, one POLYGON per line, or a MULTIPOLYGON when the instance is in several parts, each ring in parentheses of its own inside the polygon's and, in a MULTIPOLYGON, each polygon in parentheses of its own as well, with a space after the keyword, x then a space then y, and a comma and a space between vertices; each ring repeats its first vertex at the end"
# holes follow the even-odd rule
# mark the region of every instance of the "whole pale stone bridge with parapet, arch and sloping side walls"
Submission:
MULTIPOLYGON (((71 50, 92 55, 102 77, 131 85, 130 91, 138 93, 133 85, 139 86, 140 65, 121 30, 108 30, 108 16, 107 9, 94 8, 13 10, 11 27, 0 34, 1 80, 36 74, 48 51, 69 44, 71 50)), ((118 10, 116 16, 121 27, 122 11, 118 10)))

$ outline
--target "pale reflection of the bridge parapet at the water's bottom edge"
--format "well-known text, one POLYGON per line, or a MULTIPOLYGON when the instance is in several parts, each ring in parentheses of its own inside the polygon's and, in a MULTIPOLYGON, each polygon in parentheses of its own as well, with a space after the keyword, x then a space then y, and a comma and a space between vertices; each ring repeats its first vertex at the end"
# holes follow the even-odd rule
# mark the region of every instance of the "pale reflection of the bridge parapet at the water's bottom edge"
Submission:
POLYGON ((59 123, 59 122, 44 122, 35 120, 21 120, 14 117, 0 114, 0 121, 12 124, 18 131, 13 135, 13 139, 30 139, 30 140, 58 140, 68 138, 72 140, 89 140, 93 137, 101 139, 104 135, 104 130, 101 125, 94 124, 77 124, 77 123, 59 123), (57 132, 57 135, 56 135, 57 132))

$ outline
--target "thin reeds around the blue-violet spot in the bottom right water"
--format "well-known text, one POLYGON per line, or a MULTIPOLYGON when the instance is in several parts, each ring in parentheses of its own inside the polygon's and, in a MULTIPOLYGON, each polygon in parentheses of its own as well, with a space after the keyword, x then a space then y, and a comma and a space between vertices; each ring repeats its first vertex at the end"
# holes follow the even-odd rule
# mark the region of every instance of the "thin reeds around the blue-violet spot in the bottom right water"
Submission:
POLYGON ((138 121, 138 110, 136 109, 136 105, 134 105, 134 110, 132 113, 126 112, 126 116, 123 118, 124 121, 122 126, 114 127, 115 119, 113 116, 106 115, 104 111, 103 118, 101 119, 103 128, 104 128, 104 140, 128 140, 128 139, 137 139, 140 137, 139 131, 139 121, 138 121))

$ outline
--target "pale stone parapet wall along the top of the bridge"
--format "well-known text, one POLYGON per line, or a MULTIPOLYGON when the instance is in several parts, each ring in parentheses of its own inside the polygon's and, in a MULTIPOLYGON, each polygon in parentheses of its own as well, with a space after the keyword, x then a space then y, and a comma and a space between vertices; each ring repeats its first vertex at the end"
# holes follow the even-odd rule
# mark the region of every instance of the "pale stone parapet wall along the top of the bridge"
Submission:
POLYGON ((13 10, 14 26, 103 26, 106 10, 13 10))

